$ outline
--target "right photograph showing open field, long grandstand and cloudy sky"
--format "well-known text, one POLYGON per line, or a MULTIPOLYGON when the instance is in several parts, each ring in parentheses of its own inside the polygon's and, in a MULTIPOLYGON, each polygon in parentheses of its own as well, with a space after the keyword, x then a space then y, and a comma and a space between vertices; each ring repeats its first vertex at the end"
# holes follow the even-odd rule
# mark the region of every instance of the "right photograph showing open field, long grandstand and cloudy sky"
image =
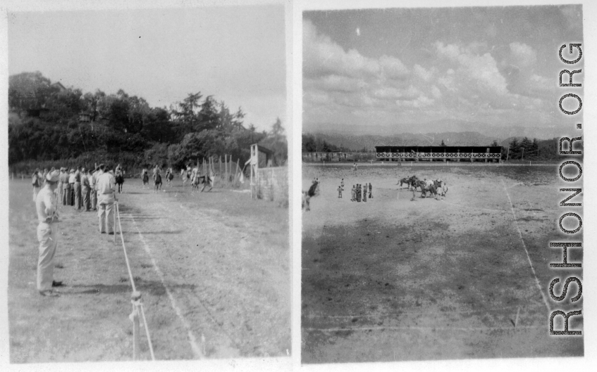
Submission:
POLYGON ((302 13, 303 364, 584 356, 582 19, 302 13))

